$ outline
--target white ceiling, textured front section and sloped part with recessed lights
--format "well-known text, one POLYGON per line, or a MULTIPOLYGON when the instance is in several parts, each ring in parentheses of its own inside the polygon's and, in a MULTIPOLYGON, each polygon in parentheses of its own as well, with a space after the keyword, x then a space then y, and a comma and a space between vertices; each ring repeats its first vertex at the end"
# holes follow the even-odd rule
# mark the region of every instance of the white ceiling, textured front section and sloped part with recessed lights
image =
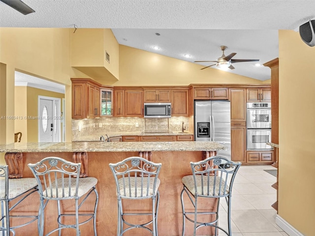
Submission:
MULTIPOLYGON (((315 18, 315 0, 23 1, 35 12, 23 15, 0 2, 0 27, 110 28, 120 44, 191 62, 215 60, 225 45, 225 55, 237 53, 233 59, 265 63, 278 57, 278 29, 297 30, 315 18)), ((229 72, 270 78, 269 68, 252 62, 234 67, 229 72)))

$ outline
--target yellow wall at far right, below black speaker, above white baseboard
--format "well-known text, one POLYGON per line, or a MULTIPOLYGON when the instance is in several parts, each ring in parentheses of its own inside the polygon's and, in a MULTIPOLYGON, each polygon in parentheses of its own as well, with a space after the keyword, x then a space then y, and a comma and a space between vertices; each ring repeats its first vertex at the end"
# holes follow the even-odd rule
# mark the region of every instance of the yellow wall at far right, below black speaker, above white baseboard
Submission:
POLYGON ((315 233, 315 47, 279 31, 279 215, 315 233))

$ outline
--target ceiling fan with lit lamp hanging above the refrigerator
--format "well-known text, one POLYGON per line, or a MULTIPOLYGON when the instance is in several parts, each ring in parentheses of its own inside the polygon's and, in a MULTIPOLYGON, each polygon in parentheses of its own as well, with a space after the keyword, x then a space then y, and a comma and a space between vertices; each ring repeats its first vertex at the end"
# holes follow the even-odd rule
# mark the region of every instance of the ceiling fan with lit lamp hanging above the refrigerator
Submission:
POLYGON ((246 61, 259 61, 259 59, 232 59, 236 53, 231 53, 228 56, 224 55, 224 51, 227 49, 226 46, 220 46, 222 50, 222 56, 218 58, 217 60, 195 60, 194 62, 216 62, 215 64, 206 66, 201 68, 201 70, 206 69, 210 66, 216 65, 219 68, 230 68, 230 69, 235 69, 235 67, 232 65, 232 63, 236 62, 246 62, 246 61))

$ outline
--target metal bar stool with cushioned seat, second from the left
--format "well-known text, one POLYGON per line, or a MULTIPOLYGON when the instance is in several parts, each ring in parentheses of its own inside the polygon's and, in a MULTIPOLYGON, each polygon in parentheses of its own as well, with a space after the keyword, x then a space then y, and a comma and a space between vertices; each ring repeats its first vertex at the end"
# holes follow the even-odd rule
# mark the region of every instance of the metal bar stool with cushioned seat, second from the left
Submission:
POLYGON ((38 183, 40 196, 39 208, 39 236, 44 235, 44 209, 50 200, 56 200, 58 206, 58 228, 50 231, 46 236, 61 230, 72 228, 76 230, 76 236, 80 236, 79 226, 94 220, 94 235, 96 236, 96 209, 98 193, 95 189, 97 179, 95 177, 80 178, 81 163, 73 163, 59 157, 46 157, 35 164, 28 164, 38 183), (80 212, 80 207, 88 197, 95 193, 95 206, 92 213, 80 212), (75 214, 65 213, 61 210, 61 201, 75 199, 75 214), (80 202, 79 202, 80 200, 80 202), (63 219, 75 218, 75 224, 65 224, 63 219), (85 217, 84 220, 79 220, 85 217), (86 219, 87 218, 87 219, 86 219))

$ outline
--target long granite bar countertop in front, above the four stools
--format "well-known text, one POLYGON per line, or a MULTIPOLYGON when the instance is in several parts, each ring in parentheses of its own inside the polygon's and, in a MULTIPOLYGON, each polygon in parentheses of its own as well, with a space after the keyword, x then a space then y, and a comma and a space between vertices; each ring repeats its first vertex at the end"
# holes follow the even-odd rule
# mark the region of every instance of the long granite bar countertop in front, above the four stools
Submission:
POLYGON ((0 152, 216 151, 227 149, 222 144, 212 141, 12 143, 0 145, 0 152))

